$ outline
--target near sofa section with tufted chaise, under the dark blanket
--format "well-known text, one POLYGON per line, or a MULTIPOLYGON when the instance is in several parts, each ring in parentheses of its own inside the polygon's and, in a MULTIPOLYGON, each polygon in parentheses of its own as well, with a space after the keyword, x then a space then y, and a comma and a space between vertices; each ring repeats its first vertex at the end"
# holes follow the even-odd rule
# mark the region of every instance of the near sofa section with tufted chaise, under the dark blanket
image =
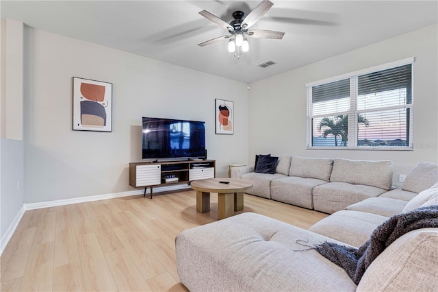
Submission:
MULTIPOLYGON (((437 182, 437 165, 431 168, 418 184, 437 182)), ((251 212, 185 230, 176 239, 179 278, 192 292, 438 291, 438 228, 400 236, 372 261, 358 284, 311 248, 326 241, 359 247, 390 215, 438 206, 438 183, 410 200, 390 197, 400 191, 352 204, 309 230, 251 212)))

